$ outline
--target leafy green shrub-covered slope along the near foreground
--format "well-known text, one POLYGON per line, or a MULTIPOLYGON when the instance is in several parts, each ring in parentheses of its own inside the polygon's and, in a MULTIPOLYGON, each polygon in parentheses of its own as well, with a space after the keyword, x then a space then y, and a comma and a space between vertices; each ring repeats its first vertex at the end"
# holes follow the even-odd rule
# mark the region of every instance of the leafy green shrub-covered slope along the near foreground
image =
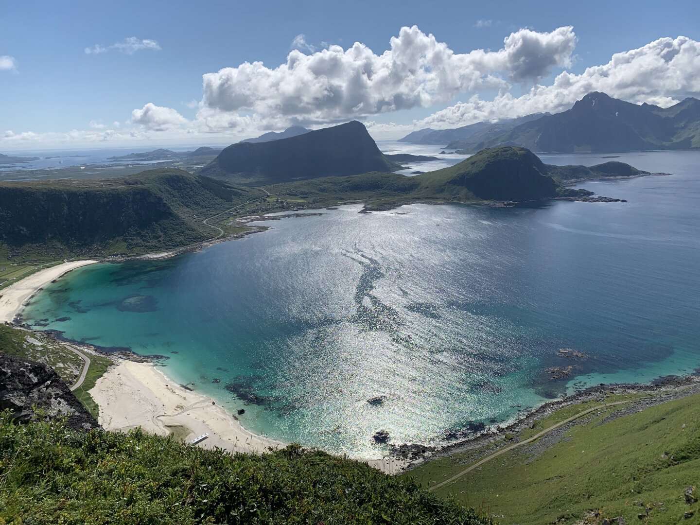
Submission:
POLYGON ((262 456, 140 431, 0 417, 0 523, 465 524, 474 512, 363 463, 290 445, 262 456))

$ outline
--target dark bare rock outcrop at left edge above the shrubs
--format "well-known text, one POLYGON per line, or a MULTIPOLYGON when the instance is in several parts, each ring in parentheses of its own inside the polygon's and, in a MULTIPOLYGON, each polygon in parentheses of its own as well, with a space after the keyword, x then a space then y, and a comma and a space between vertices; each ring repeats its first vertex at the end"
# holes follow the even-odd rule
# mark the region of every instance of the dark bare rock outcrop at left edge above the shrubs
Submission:
POLYGON ((50 366, 0 352, 0 409, 7 408, 22 423, 36 420, 38 409, 48 419, 67 416, 76 430, 99 427, 50 366))

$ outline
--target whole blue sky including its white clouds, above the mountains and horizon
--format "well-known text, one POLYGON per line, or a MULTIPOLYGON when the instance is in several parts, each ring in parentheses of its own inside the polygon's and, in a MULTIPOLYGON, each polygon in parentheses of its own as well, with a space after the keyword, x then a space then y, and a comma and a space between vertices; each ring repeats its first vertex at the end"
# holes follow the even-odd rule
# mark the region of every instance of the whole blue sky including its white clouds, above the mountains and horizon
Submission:
POLYGON ((700 97, 700 2, 0 0, 0 153, 700 97))

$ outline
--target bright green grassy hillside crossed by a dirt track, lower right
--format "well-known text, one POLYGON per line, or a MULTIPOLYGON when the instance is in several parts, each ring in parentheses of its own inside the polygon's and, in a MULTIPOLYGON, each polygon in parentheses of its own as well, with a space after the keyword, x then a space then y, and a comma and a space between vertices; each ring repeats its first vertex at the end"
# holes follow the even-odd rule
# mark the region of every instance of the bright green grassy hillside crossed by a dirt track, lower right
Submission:
MULTIPOLYGON (((697 524, 700 503, 700 394, 663 402, 640 412, 640 396, 611 396, 629 404, 601 409, 531 444, 505 452, 435 493, 488 509, 506 524, 601 524, 622 516, 626 524, 697 524), (686 513, 692 514, 684 518, 686 513)), ((506 435, 503 447, 539 433, 587 407, 571 405, 521 435, 506 435), (509 439, 510 438, 510 439, 509 439)), ((437 458, 409 472, 435 485, 476 463, 485 451, 437 458)), ((622 522, 620 522, 622 523, 622 522)))

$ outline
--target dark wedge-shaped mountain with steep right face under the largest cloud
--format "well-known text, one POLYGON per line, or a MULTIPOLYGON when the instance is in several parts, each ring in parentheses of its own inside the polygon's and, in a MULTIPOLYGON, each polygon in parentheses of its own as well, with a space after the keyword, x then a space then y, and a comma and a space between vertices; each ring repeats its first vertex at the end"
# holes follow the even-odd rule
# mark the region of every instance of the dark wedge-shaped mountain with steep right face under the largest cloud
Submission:
POLYGON ((260 186, 323 176, 393 172, 400 168, 379 151, 365 126, 353 120, 289 139, 232 144, 201 173, 237 184, 260 186))

